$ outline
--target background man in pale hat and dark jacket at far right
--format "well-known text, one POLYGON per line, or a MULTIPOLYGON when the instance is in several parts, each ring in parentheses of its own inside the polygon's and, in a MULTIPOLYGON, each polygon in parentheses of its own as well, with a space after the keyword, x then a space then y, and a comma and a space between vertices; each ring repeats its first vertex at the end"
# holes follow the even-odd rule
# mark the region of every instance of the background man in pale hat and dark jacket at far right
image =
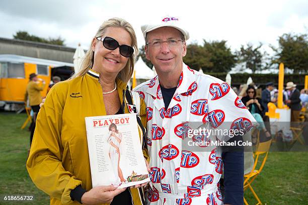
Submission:
POLYGON ((300 92, 296 89, 293 82, 287 82, 285 89, 288 93, 288 99, 285 101, 287 106, 291 109, 291 122, 299 122, 300 106, 300 92))

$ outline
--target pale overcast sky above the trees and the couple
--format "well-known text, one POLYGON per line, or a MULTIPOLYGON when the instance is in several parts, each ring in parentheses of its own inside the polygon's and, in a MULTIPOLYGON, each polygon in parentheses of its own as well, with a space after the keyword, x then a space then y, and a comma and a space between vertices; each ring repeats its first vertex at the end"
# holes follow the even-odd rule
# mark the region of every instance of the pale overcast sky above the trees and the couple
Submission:
POLYGON ((262 42, 277 46, 283 33, 308 33, 307 0, 259 1, 65 1, 1 0, 0 37, 17 31, 39 37, 65 39, 69 47, 85 49, 100 24, 111 17, 126 19, 135 29, 138 47, 144 45, 140 26, 148 19, 177 16, 190 32, 188 43, 226 40, 232 50, 262 42), (89 2, 89 3, 88 3, 89 2))

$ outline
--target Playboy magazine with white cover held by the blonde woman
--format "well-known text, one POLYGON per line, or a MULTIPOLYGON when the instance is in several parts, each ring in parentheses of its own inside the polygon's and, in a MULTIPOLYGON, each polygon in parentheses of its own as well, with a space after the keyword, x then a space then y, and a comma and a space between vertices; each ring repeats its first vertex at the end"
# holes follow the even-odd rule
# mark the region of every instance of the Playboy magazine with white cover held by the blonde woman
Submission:
POLYGON ((93 187, 124 188, 149 181, 136 114, 85 119, 93 187))

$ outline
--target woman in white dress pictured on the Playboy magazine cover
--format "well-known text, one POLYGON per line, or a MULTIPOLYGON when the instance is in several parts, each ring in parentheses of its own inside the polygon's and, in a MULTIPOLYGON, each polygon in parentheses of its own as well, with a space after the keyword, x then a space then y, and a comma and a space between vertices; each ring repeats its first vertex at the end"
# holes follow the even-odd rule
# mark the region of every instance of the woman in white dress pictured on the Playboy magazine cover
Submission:
POLYGON ((117 126, 114 123, 111 123, 109 126, 109 138, 107 142, 110 144, 109 157, 112 163, 112 167, 114 172, 118 171, 118 176, 120 178, 121 183, 126 182, 123 177, 122 170, 120 168, 120 143, 122 141, 122 133, 117 130, 117 126))

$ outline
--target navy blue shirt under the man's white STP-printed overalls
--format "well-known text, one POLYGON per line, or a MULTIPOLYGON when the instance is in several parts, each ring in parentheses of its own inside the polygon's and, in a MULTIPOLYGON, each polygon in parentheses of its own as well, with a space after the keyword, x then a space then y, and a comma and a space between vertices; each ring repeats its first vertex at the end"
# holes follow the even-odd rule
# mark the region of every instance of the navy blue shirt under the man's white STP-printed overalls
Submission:
MULTIPOLYGON (((165 108, 171 102, 171 99, 177 87, 165 88, 161 85, 165 108)), ((229 140, 242 140, 241 136, 235 136, 229 140)), ((228 148, 224 148, 228 149, 228 148)), ((244 203, 244 152, 241 147, 237 147, 237 151, 233 150, 222 152, 222 161, 224 164, 224 203, 227 204, 243 204, 244 203)))

